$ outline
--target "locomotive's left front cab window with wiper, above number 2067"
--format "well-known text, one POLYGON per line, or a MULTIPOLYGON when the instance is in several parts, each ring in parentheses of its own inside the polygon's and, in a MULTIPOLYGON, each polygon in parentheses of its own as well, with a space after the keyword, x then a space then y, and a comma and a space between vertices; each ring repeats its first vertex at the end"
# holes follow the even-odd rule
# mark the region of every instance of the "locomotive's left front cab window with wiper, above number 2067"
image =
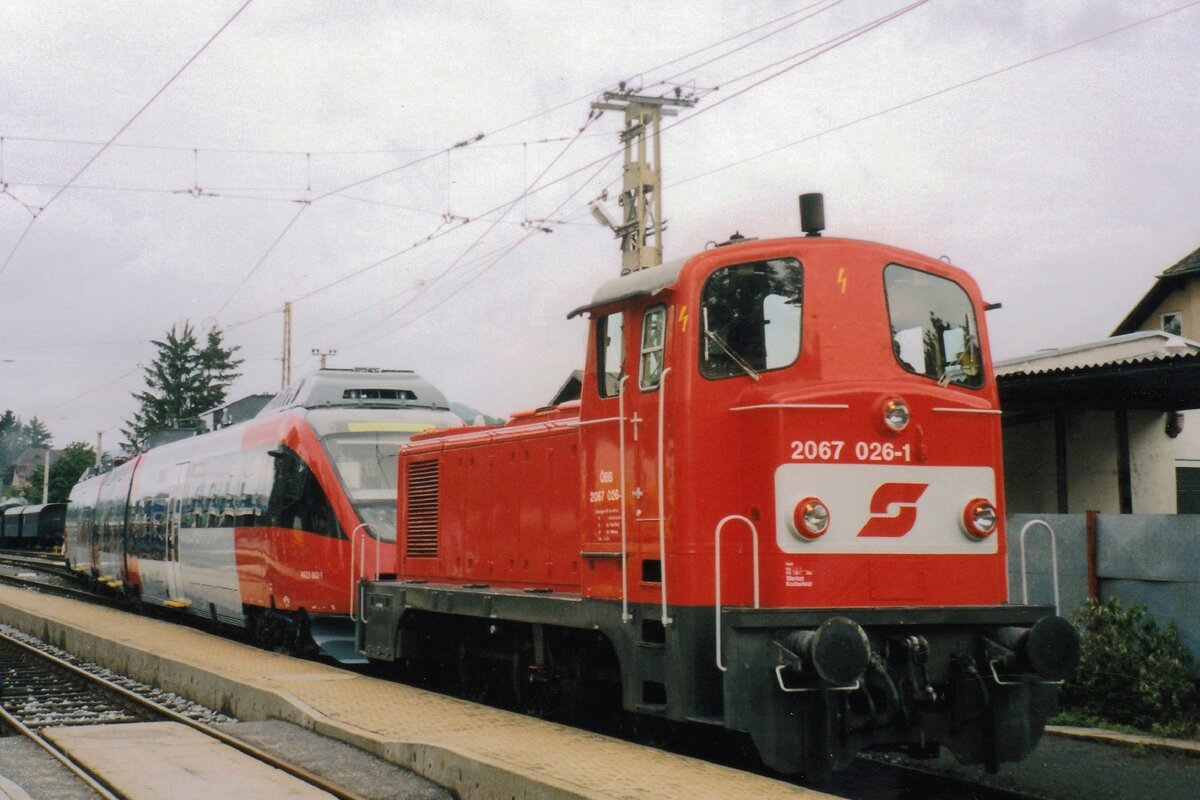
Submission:
POLYGON ((757 377, 800 354, 804 273, 794 258, 734 264, 713 272, 701 293, 700 372, 757 377))

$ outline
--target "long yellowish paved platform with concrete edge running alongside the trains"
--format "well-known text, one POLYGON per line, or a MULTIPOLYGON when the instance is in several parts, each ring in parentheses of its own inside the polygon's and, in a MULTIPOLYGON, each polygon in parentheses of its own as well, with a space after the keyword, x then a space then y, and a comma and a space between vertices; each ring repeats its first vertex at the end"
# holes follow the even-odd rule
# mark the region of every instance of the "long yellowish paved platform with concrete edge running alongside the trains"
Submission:
POLYGON ((0 622, 240 720, 283 720, 343 741, 463 800, 829 796, 24 589, 0 587, 0 622))

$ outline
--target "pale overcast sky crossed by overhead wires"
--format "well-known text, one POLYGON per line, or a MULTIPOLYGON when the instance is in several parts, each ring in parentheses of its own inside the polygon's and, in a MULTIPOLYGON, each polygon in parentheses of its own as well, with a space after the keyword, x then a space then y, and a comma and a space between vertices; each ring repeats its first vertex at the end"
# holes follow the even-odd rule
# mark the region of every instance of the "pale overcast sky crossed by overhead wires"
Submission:
POLYGON ((830 235, 971 271, 996 357, 1106 336, 1200 247, 1200 7, 941 92, 1184 0, 932 0, 833 48, 911 1, 253 0, 146 106, 242 2, 5 4, 0 409, 59 446, 115 446, 185 320, 241 347, 233 397, 278 390, 289 300, 295 375, 336 349, 544 404, 619 269, 587 213, 619 80, 698 97, 662 137, 667 259, 792 235, 822 191, 830 235))

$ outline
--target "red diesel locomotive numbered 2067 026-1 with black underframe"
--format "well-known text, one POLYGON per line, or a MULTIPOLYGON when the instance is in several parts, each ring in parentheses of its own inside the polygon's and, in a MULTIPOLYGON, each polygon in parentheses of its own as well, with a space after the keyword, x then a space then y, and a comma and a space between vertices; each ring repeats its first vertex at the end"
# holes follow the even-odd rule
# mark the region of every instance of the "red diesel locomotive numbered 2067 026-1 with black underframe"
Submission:
POLYGON ((361 652, 536 710, 607 687, 782 772, 1026 756, 1078 642, 1007 604, 979 290, 821 227, 608 282, 577 401, 413 437, 361 652))

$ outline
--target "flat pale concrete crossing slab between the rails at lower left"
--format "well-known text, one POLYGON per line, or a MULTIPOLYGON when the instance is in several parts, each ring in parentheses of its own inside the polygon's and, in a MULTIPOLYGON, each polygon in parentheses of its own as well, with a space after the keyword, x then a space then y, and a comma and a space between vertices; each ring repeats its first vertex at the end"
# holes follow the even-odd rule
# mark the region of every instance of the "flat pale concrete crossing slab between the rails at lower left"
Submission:
POLYGON ((178 722, 47 728, 43 735, 127 800, 334 796, 178 722))

